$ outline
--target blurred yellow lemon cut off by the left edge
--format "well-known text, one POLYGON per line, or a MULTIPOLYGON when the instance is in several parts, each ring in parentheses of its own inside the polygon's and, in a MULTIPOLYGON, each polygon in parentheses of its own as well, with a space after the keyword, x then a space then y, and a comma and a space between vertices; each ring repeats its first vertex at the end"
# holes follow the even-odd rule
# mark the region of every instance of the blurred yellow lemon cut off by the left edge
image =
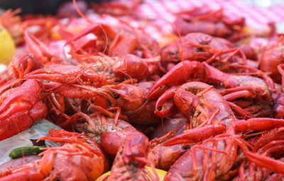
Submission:
POLYGON ((13 38, 6 28, 0 25, 0 64, 9 64, 15 52, 13 38))

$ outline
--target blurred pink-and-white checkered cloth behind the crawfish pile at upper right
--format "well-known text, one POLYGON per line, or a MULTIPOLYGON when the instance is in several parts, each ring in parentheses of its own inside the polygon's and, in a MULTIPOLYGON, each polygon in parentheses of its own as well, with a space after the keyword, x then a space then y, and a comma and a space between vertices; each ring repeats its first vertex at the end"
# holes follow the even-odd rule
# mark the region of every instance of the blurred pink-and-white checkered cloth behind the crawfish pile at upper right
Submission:
MULTIPOLYGON (((188 11, 195 7, 209 6, 213 9, 223 8, 226 16, 234 18, 244 16, 246 24, 253 30, 262 30, 267 28, 269 22, 275 22, 278 28, 284 29, 284 2, 277 0, 146 0, 144 4, 138 7, 138 13, 146 18, 159 17, 167 21, 175 21, 173 13, 178 11, 188 11), (263 3, 263 6, 261 5, 263 3), (266 3, 266 4, 265 4, 266 3), (271 6, 265 6, 271 3, 271 6)), ((158 23, 159 24, 159 23, 158 23)), ((147 33, 157 33, 162 29, 169 29, 165 26, 165 21, 160 21, 161 26, 149 27, 147 33)), ((280 30, 282 32, 282 30, 280 30)))

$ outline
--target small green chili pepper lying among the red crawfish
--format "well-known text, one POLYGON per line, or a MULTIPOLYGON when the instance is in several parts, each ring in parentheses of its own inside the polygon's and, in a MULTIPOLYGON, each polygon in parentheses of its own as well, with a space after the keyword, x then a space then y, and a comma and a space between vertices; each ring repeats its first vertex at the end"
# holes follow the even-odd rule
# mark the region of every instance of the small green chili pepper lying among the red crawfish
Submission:
POLYGON ((37 155, 38 153, 43 151, 40 150, 40 148, 44 147, 46 146, 24 146, 24 147, 14 148, 9 154, 9 157, 15 159, 28 155, 37 155))

